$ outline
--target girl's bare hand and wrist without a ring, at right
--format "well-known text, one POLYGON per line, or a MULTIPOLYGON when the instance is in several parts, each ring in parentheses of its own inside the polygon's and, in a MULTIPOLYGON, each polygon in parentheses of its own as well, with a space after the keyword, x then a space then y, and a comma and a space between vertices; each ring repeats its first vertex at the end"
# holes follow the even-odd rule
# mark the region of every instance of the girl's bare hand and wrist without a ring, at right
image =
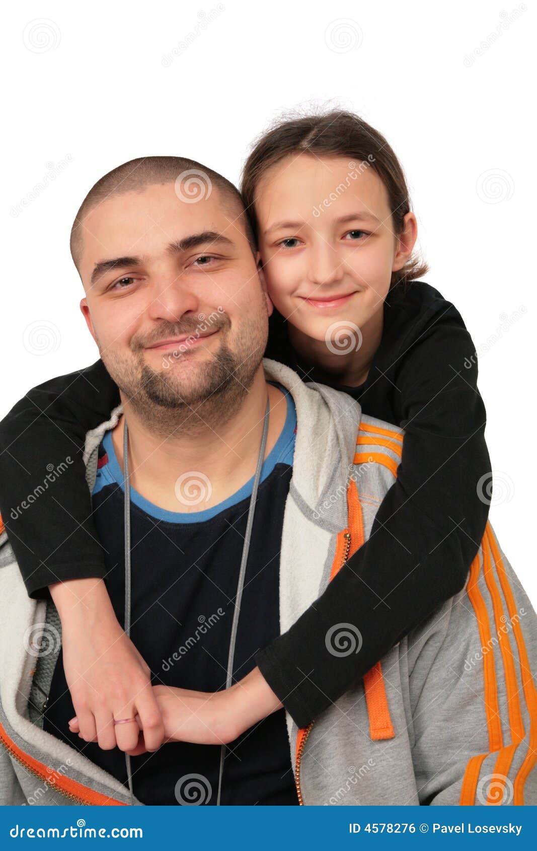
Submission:
MULTIPOLYGON (((153 687, 153 694, 162 712, 164 742, 227 745, 254 723, 282 707, 259 668, 254 668, 240 683, 225 691, 199 692, 159 685, 153 687)), ((131 757, 149 750, 143 721, 141 717, 138 720, 138 743, 127 751, 131 757)), ((76 718, 70 722, 70 728, 73 733, 77 732, 76 718)))

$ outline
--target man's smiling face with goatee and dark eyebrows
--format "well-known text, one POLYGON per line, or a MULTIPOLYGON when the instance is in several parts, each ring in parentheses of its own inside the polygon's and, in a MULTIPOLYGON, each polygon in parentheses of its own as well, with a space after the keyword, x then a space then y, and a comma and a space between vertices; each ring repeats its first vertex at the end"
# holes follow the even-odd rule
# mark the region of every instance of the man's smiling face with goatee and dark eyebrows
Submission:
POLYGON ((83 222, 81 302, 111 377, 135 407, 184 408, 248 389, 271 302, 231 203, 173 182, 110 197, 83 222))

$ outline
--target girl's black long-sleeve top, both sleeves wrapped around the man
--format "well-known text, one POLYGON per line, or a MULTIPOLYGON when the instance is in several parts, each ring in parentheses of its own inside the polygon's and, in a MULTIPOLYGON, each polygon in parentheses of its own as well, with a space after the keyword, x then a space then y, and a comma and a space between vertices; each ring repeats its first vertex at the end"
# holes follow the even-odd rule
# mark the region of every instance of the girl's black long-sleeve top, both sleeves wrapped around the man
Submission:
MULTIPOLYGON (((303 380, 350 393, 364 414, 405 430, 397 480, 369 539, 316 603, 255 656, 299 727, 464 587, 488 519, 486 414, 475 347, 459 311, 423 282, 391 289, 383 310, 380 346, 358 387, 334 384, 300 362, 283 318, 271 317, 267 357, 303 380), (357 625, 359 654, 329 652, 325 637, 336 623, 357 625)), ((32 388, 0 423, 0 513, 30 597, 49 597, 48 585, 60 580, 105 576, 83 444, 119 402, 99 360, 32 388), (29 505, 47 465, 62 465, 61 475, 29 505)))

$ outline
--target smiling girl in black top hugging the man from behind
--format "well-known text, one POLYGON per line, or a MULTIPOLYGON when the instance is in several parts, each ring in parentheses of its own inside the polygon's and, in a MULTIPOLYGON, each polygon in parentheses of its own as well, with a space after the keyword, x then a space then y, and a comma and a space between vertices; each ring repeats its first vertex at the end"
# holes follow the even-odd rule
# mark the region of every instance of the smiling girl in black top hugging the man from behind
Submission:
MULTIPOLYGON (((405 430, 397 480, 370 538, 323 596, 255 657, 271 691, 305 727, 465 585, 488 518, 485 410, 475 347, 459 312, 417 280, 428 267, 412 254, 417 226, 408 188, 377 130, 343 111, 279 123, 250 154, 242 190, 276 308, 267 357, 303 380, 346 391, 365 414, 405 430), (338 623, 357 626, 359 653, 329 652, 327 632, 338 623)), ((78 457, 86 431, 117 403, 117 386, 99 361, 34 388, 3 420, 3 447, 12 448, 0 455, 0 509, 31 597, 49 597, 49 585, 104 577, 106 570, 82 462, 62 480, 74 521, 67 535, 54 489, 12 527, 9 506, 25 496, 19 463, 40 481, 43 446, 56 462, 78 457), (33 555, 43 552, 50 553, 46 565, 33 555)), ((322 437, 311 441, 312 452, 323 451, 322 437)), ((89 594, 89 610, 92 600, 89 594)), ((93 616, 85 623, 96 633, 99 615, 93 616)), ((127 694, 130 674, 145 663, 117 621, 116 627, 106 670, 122 671, 127 694)), ((80 658, 73 671, 93 666, 106 677, 87 635, 74 647, 80 658)), ((111 704, 106 683, 103 689, 101 700, 111 704)), ((88 694, 96 707, 91 700, 88 694)), ((73 705, 77 711, 74 699, 73 705)), ((245 705, 249 724, 265 714, 245 705)))

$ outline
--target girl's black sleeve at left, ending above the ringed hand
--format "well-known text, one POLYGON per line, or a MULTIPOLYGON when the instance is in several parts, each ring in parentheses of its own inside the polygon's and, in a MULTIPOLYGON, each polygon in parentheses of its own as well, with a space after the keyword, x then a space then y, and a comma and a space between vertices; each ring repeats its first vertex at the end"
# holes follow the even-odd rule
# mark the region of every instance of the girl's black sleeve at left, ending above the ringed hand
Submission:
POLYGON ((86 432, 120 403, 102 361, 33 387, 0 422, 0 514, 33 599, 106 574, 86 484, 86 432))

